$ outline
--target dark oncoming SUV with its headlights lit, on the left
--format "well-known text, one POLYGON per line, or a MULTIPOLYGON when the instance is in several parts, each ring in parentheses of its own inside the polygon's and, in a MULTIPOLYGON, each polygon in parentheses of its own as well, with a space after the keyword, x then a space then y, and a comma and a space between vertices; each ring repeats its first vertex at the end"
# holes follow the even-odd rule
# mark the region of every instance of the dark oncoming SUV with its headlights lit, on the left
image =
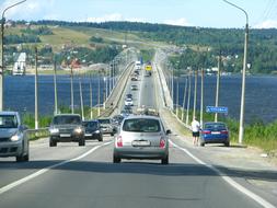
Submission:
POLYGON ((84 128, 79 114, 59 114, 54 116, 49 127, 49 146, 56 147, 57 142, 79 142, 85 146, 84 128))

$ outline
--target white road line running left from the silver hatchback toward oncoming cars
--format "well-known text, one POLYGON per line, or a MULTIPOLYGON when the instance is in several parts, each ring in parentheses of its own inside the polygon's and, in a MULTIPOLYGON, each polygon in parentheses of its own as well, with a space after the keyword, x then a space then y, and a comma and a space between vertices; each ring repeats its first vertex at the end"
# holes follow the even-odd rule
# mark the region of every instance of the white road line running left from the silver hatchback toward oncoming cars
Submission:
POLYGON ((112 142, 113 142, 113 141, 103 143, 103 145, 101 145, 101 146, 96 146, 96 147, 90 149, 88 152, 85 152, 85 153, 83 153, 83 154, 81 154, 81 155, 79 155, 79 157, 77 157, 77 158, 73 158, 73 159, 70 159, 70 160, 66 160, 66 161, 59 162, 59 163, 57 163, 57 164, 54 164, 54 165, 44 167, 44 169, 42 169, 42 170, 39 170, 39 171, 37 171, 37 172, 35 172, 35 173, 33 173, 33 174, 26 176, 26 177, 23 177, 23 178, 21 178, 21 180, 19 180, 19 181, 15 181, 15 182, 11 183, 11 184, 8 184, 8 185, 3 186, 2 188, 0 188, 0 195, 3 194, 3 193, 5 193, 5 192, 8 192, 8 190, 10 190, 10 189, 12 189, 12 188, 14 188, 14 187, 16 187, 16 186, 19 186, 19 185, 21 185, 21 184, 24 184, 24 183, 27 182, 27 181, 31 181, 31 180, 33 180, 33 178, 35 178, 35 177, 37 177, 37 176, 39 176, 39 175, 42 175, 42 174, 44 174, 44 173, 50 171, 51 169, 55 169, 55 167, 57 167, 57 166, 61 166, 61 165, 67 164, 67 163, 69 163, 69 162, 73 162, 73 161, 83 159, 83 158, 85 158, 86 155, 89 155, 90 153, 92 153, 92 152, 94 152, 95 150, 97 150, 99 148, 104 147, 104 146, 107 146, 107 145, 109 145, 109 143, 112 143, 112 142))

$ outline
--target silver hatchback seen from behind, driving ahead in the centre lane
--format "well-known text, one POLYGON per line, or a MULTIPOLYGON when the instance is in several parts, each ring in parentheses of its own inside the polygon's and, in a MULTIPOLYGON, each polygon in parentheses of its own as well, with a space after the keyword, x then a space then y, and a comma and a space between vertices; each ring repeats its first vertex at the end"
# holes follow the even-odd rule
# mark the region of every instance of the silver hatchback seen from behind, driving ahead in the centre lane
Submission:
POLYGON ((158 116, 134 115, 125 118, 114 143, 114 163, 122 159, 150 159, 169 163, 169 134, 158 116))

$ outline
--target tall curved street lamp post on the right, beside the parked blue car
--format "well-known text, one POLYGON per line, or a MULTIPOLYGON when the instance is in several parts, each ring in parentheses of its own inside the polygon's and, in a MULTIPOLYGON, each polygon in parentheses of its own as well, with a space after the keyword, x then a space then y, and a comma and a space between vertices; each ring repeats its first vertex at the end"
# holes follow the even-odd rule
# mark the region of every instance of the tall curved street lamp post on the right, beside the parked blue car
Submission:
POLYGON ((242 92, 241 92, 241 114, 240 114, 240 131, 239 131, 239 143, 242 143, 243 140, 243 132, 244 132, 244 102, 245 102, 245 74, 246 74, 246 67, 247 67, 247 45, 249 45, 249 14, 242 8, 223 0, 224 2, 229 3, 230 5, 241 10, 246 18, 245 24, 245 35, 244 35, 244 53, 243 53, 243 69, 242 69, 242 92))

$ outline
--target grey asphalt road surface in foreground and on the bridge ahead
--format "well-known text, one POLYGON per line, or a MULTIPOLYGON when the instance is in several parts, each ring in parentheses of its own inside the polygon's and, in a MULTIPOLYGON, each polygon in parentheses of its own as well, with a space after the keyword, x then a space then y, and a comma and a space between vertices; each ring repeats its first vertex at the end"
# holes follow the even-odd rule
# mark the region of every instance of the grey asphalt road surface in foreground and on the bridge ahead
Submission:
MULTIPOLYGON (((143 79, 137 81, 137 102, 157 105, 155 83, 152 77, 143 79)), ((171 141, 178 143, 174 135, 171 141)), ((104 137, 104 142, 88 141, 85 147, 49 148, 45 139, 31 143, 30 162, 0 159, 0 207, 262 207, 178 146, 171 143, 169 165, 148 160, 113 164, 112 142, 104 137)))

